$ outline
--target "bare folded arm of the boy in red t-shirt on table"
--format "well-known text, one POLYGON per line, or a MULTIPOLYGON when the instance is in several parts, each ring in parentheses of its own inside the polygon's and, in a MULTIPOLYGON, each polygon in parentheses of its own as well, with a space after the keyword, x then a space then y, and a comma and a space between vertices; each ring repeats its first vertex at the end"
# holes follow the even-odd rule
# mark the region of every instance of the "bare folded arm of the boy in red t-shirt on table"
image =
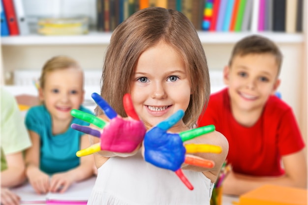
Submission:
POLYGON ((307 188, 307 162, 304 150, 282 157, 285 175, 246 176, 230 172, 223 182, 223 193, 241 195, 265 184, 307 188))

